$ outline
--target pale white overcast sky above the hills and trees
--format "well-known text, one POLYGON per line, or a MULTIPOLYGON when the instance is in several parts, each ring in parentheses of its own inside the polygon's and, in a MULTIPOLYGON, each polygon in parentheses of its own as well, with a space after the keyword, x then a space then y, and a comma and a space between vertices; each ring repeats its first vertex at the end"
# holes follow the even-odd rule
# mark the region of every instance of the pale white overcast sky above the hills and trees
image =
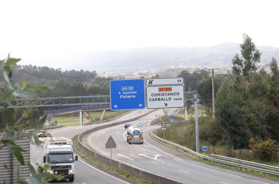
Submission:
POLYGON ((0 59, 11 53, 21 65, 68 69, 84 52, 241 43, 243 33, 279 47, 275 0, 3 0, 0 7, 0 59))

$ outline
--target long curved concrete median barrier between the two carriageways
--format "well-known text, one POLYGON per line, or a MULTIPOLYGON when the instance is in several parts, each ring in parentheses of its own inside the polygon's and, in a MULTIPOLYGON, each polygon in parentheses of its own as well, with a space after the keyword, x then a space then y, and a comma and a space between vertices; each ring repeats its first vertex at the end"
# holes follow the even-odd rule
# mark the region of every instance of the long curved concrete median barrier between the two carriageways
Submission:
POLYGON ((112 123, 112 124, 109 124, 109 125, 102 125, 102 126, 98 126, 98 127, 89 129, 89 130, 83 132, 82 134, 80 134, 78 136, 78 142, 77 142, 78 147, 83 152, 85 152, 88 156, 91 156, 92 158, 94 158, 96 160, 99 160, 100 162, 102 162, 104 164, 107 164, 107 165, 109 165, 113 168, 119 169, 120 171, 126 171, 126 173, 129 173, 129 174, 131 174, 135 177, 138 177, 140 179, 151 181, 154 184, 180 184, 181 182, 178 182, 178 181, 175 181, 175 180, 157 175, 156 173, 151 173, 151 172, 145 171, 143 169, 133 167, 133 166, 128 165, 128 164, 124 164, 119 160, 113 160, 113 159, 110 160, 110 158, 107 158, 103 155, 100 155, 100 154, 96 153, 95 151, 92 151, 92 150, 88 149, 87 147, 85 147, 81 143, 82 137, 85 136, 86 134, 90 134, 90 133, 92 133, 96 130, 104 129, 104 128, 107 128, 107 127, 110 127, 110 126, 127 123, 127 122, 130 122, 130 121, 139 119, 139 118, 140 117, 136 117, 136 118, 133 118, 131 120, 120 121, 120 122, 112 123))

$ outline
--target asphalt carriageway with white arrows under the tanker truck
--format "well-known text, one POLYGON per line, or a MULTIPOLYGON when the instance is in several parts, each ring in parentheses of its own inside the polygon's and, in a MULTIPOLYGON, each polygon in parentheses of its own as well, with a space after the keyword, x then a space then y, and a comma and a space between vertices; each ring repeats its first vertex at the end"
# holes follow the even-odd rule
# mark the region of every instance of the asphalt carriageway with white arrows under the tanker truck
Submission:
MULTIPOLYGON (((156 112, 151 113, 131 123, 137 125, 146 119, 154 119, 155 114, 156 112)), ((112 150, 113 159, 182 183, 278 183, 275 180, 195 161, 190 156, 153 140, 150 133, 158 128, 161 127, 157 125, 142 128, 144 144, 129 145, 124 124, 93 132, 88 136, 87 143, 98 153, 110 157, 110 149, 105 149, 104 144, 108 137, 112 136, 117 145, 112 150)))

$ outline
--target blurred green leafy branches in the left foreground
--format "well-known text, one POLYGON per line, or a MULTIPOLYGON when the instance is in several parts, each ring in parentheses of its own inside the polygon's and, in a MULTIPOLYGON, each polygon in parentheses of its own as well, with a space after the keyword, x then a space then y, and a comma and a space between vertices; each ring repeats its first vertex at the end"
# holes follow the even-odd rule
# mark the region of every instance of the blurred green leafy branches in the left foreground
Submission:
MULTIPOLYGON (((26 81, 23 83, 18 84, 19 87, 15 86, 15 81, 12 78, 13 69, 15 67, 15 64, 19 62, 20 59, 10 58, 10 54, 8 55, 8 58, 5 60, 0 60, 0 66, 4 65, 2 69, 0 69, 1 73, 1 79, 4 79, 6 82, 6 85, 8 86, 8 91, 4 91, 4 94, 1 94, 0 97, 0 103, 6 104, 4 108, 0 109, 0 112, 6 113, 5 118, 5 129, 3 131, 3 134, 0 138, 0 149, 3 147, 7 147, 10 151, 11 155, 15 156, 17 160, 20 162, 20 164, 24 164, 24 159, 22 156, 22 152, 24 152, 23 149, 17 144, 15 144, 15 141, 22 138, 27 138, 31 143, 33 144, 40 144, 40 141, 37 137, 37 134, 40 132, 40 130, 43 127, 43 124, 46 120, 46 116, 44 116, 41 120, 38 121, 36 129, 32 133, 24 133, 21 131, 20 127, 22 126, 22 120, 24 118, 28 118, 33 112, 33 108, 29 108, 27 111, 24 111, 23 114, 18 116, 16 111, 14 109, 14 114, 11 113, 11 111, 7 108, 7 106, 11 106, 10 103, 11 100, 15 99, 15 97, 20 98, 31 98, 42 92, 42 90, 47 90, 47 87, 43 86, 37 86, 33 84, 27 84, 26 81), (6 63, 5 63, 6 61, 6 63), (15 117, 15 118, 14 118, 15 117), (34 139, 34 141, 32 140, 34 139)), ((28 123, 28 122, 27 122, 28 123)), ((48 136, 51 136, 50 134, 47 134, 48 136)), ((3 163, 1 163, 3 164, 3 163)), ((33 166, 28 163, 30 172, 32 174, 31 177, 27 180, 22 180, 19 178, 19 167, 16 169, 16 180, 18 183, 26 184, 26 183, 47 183, 51 181, 52 179, 62 179, 62 175, 50 175, 49 173, 41 173, 39 171, 36 172, 36 170, 33 168, 33 166)), ((7 168, 7 165, 4 164, 4 167, 7 168)), ((51 164, 44 165, 43 169, 47 170, 50 169, 51 164)), ((4 180, 4 183, 6 181, 4 180)))

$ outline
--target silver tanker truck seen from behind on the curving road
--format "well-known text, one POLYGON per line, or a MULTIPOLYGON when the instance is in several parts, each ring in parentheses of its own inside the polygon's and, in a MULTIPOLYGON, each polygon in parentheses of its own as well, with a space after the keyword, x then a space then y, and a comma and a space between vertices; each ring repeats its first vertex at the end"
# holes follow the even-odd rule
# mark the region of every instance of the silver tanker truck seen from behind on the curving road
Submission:
POLYGON ((127 142, 143 144, 142 130, 136 125, 131 125, 127 130, 127 142))

